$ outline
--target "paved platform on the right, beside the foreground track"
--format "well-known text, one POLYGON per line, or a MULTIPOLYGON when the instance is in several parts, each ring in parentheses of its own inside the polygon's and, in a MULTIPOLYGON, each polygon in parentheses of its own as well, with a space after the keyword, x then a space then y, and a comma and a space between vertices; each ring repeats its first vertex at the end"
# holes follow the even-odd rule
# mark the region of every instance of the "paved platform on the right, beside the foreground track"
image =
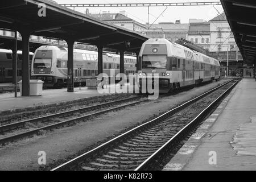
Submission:
POLYGON ((255 170, 255 141, 256 82, 244 78, 163 170, 255 170))

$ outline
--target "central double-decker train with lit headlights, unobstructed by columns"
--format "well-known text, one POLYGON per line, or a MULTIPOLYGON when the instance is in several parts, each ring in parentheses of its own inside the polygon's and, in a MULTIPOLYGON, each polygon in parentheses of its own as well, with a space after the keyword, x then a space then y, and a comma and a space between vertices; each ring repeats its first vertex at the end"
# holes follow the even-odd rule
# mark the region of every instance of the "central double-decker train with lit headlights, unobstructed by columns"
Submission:
MULTIPOLYGON (((158 75, 159 93, 220 80, 220 63, 203 53, 167 39, 148 39, 138 60, 139 86, 158 75)), ((152 86, 154 86, 154 81, 152 86)), ((147 87, 146 87, 147 88, 147 87)))

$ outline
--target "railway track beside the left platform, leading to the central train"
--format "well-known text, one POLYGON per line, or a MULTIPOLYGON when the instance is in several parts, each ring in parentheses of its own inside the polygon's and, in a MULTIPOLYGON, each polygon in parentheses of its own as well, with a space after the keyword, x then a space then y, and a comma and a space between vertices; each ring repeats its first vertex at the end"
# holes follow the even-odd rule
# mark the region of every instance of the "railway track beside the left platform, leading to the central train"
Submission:
POLYGON ((72 125, 73 123, 83 121, 90 117, 105 114, 113 110, 123 109, 124 107, 139 104, 144 101, 147 101, 146 96, 136 96, 104 104, 68 110, 57 114, 46 115, 44 117, 28 119, 26 121, 1 125, 0 144, 15 142, 16 140, 38 134, 43 130, 51 130, 56 129, 57 127, 72 125), (15 134, 13 135, 13 133, 15 134))

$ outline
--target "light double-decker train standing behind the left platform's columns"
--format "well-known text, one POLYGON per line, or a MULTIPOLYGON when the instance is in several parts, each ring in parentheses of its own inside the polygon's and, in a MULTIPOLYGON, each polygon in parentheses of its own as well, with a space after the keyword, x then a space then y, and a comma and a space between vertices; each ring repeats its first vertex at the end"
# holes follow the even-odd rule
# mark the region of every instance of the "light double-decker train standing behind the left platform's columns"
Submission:
MULTIPOLYGON (((86 80, 98 75, 98 52, 74 49, 74 84, 86 86, 86 80)), ((57 46, 41 46, 35 51, 31 65, 32 80, 44 81, 45 88, 62 88, 67 85, 68 49, 57 46)), ((125 74, 135 74, 137 57, 125 55, 125 74)), ((120 56, 103 53, 103 72, 120 73, 120 56)))

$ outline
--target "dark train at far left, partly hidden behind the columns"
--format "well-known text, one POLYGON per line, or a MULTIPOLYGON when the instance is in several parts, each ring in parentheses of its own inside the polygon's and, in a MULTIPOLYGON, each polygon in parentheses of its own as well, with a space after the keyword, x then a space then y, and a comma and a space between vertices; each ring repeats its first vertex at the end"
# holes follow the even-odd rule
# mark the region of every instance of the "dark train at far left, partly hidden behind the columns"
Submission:
MULTIPOLYGON (((30 65, 33 52, 30 52, 30 65)), ((17 51, 17 79, 22 80, 22 51, 17 51)), ((13 51, 0 49, 0 83, 13 82, 13 51)))

